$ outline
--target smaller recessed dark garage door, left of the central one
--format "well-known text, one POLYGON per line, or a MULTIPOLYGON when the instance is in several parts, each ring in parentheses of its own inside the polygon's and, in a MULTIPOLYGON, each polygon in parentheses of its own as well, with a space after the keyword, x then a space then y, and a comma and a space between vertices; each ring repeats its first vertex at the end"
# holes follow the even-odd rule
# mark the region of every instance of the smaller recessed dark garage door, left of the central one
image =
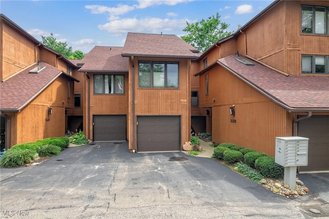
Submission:
POLYGON ((94 115, 94 141, 125 140, 125 115, 94 115))

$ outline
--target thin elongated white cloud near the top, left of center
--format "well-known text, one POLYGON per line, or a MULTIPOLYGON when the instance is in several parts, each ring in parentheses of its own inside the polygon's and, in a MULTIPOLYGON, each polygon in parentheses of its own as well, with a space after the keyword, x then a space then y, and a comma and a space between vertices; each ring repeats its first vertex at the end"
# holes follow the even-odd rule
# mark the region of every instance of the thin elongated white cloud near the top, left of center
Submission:
POLYGON ((102 5, 86 5, 84 7, 86 9, 90 9, 93 14, 103 14, 107 12, 111 15, 121 15, 135 9, 134 6, 122 5, 122 4, 119 4, 118 7, 112 7, 112 8, 102 5))

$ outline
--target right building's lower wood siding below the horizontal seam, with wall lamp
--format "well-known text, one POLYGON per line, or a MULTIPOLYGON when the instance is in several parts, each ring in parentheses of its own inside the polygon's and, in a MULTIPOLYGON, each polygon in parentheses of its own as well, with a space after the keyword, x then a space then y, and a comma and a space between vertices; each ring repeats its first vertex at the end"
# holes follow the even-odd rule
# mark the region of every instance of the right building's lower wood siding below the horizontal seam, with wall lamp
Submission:
POLYGON ((230 142, 275 156, 275 138, 287 135, 287 112, 272 101, 250 102, 235 104, 235 116, 230 116, 230 106, 212 109, 213 141, 230 142))

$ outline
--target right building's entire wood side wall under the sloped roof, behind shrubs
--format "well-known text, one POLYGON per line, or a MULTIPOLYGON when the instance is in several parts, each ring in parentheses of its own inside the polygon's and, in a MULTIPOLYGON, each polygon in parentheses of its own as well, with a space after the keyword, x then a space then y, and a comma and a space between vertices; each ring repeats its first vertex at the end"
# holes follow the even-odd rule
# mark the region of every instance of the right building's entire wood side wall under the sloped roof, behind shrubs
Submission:
MULTIPOLYGON (((235 143, 274 156, 275 137, 292 133, 292 120, 287 121, 285 109, 221 66, 208 73, 209 95, 200 95, 200 106, 212 107, 209 117, 213 141, 235 143), (235 116, 229 113, 233 104, 235 116)), ((201 80, 204 77, 205 74, 200 75, 201 80)), ((204 89, 204 85, 200 87, 204 89)))

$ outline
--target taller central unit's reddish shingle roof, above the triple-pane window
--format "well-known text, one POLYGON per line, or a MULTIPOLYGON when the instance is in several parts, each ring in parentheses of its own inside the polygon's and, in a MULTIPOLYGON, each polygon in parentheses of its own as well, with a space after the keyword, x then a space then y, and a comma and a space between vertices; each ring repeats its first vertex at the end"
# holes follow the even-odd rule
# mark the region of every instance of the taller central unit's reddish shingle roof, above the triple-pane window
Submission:
POLYGON ((172 34, 128 33, 122 56, 197 59, 197 49, 172 34))

